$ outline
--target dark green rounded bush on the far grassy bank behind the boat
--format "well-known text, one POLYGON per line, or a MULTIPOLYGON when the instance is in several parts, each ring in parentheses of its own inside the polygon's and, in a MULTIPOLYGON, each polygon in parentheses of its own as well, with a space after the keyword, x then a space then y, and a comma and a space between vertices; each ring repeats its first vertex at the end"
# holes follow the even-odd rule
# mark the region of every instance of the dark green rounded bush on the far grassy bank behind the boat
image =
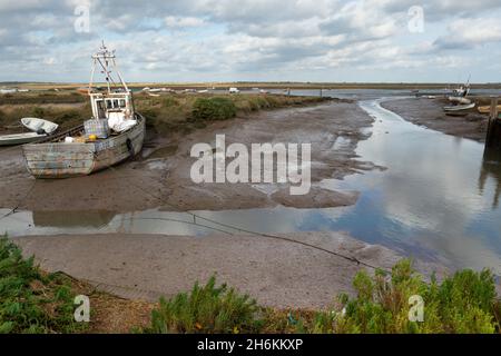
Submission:
POLYGON ((228 98, 198 98, 191 116, 195 120, 227 120, 236 116, 236 106, 228 98))

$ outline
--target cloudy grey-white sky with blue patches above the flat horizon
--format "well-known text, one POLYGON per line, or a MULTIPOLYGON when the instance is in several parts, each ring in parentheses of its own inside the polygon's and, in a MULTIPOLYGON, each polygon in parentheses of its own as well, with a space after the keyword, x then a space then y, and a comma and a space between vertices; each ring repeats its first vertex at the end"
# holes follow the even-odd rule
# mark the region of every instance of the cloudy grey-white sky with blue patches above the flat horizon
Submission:
POLYGON ((128 81, 501 81, 500 0, 0 0, 0 81, 87 81, 101 39, 128 81))

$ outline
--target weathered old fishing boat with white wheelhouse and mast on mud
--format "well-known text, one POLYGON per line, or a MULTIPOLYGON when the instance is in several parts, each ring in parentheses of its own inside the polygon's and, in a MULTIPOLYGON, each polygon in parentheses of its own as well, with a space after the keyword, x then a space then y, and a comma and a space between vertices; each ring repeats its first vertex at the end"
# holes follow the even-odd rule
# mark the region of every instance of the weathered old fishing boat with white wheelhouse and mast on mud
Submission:
POLYGON ((135 112, 132 92, 105 44, 92 56, 88 89, 92 118, 84 125, 22 147, 26 165, 36 178, 90 175, 137 155, 143 148, 145 119, 135 112), (98 69, 107 90, 92 88, 98 69))

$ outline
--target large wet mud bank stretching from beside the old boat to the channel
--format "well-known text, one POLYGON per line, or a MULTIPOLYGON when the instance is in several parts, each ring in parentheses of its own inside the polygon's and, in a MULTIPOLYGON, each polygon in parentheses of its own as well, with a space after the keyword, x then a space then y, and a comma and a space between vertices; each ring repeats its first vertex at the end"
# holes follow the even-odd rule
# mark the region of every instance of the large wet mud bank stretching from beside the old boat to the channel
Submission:
POLYGON ((278 204, 302 208, 336 207, 356 201, 356 194, 315 187, 324 178, 374 168, 358 161, 355 148, 370 134, 372 119, 352 102, 263 111, 235 120, 215 122, 190 135, 151 137, 134 160, 81 178, 36 180, 24 168, 21 149, 0 150, 0 207, 33 211, 109 210, 137 211, 243 209, 278 204), (312 144, 312 181, 308 195, 289 199, 288 185, 194 184, 193 145, 213 142, 226 135, 227 145, 292 142, 312 144))

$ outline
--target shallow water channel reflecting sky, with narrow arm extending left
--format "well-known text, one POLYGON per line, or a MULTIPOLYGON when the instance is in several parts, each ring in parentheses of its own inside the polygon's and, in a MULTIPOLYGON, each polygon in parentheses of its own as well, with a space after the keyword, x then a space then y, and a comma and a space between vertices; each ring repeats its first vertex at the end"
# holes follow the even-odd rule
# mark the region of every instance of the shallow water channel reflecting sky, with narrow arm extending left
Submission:
MULTIPOLYGON (((501 159, 483 144, 418 127, 385 110, 386 99, 360 101, 374 118, 372 136, 358 142, 360 160, 384 166, 323 187, 358 190, 346 208, 266 208, 193 211, 199 217, 261 233, 345 230, 451 267, 491 267, 501 275, 501 159)), ((340 140, 336 145, 343 145, 340 140)), ((8 211, 0 209, 0 214, 8 211)), ((238 230, 184 212, 146 210, 20 211, 2 221, 10 236, 96 233, 196 235, 238 230)))

